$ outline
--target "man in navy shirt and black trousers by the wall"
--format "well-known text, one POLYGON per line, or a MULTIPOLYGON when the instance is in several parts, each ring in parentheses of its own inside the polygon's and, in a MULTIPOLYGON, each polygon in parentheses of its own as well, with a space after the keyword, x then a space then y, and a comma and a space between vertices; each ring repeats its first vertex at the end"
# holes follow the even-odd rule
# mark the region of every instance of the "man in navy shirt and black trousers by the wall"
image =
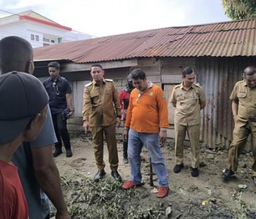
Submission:
POLYGON ((43 85, 49 95, 49 107, 51 108, 53 126, 57 137, 53 157, 57 157, 62 153, 60 136, 63 140, 67 157, 72 157, 67 129, 67 119, 72 117, 74 112, 71 102, 71 86, 67 79, 60 77, 60 64, 58 62, 50 62, 48 71, 50 77, 43 82, 43 85))

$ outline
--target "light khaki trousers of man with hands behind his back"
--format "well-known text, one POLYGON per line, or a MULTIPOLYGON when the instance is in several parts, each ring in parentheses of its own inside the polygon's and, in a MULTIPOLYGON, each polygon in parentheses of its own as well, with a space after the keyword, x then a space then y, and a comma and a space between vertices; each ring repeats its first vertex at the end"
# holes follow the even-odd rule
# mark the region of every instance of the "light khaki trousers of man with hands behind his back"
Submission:
POLYGON ((193 168, 199 167, 200 154, 200 124, 198 125, 180 125, 175 123, 175 161, 176 165, 183 163, 183 149, 186 131, 188 133, 191 144, 191 166, 193 168))

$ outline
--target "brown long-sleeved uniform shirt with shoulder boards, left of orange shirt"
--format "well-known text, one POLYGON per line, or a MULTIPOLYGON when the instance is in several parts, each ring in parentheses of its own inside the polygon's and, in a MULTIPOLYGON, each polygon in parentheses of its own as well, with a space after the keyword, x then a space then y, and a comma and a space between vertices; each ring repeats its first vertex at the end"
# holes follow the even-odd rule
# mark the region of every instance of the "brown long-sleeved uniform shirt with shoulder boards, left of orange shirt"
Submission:
POLYGON ((121 117, 121 105, 112 79, 103 79, 100 85, 96 81, 85 85, 82 118, 90 127, 112 125, 117 116, 121 117))

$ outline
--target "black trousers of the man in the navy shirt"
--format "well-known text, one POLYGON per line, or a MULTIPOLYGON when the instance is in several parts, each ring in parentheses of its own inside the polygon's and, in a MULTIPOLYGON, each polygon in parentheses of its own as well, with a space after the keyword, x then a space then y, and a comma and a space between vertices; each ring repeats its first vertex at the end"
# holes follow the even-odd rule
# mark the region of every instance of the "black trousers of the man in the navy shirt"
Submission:
POLYGON ((56 114, 52 114, 52 121, 53 121, 53 127, 55 130, 56 138, 58 141, 55 143, 56 150, 61 150, 62 148, 62 142, 61 142, 60 136, 63 140, 65 149, 70 150, 71 145, 70 145, 70 139, 69 139, 69 134, 67 129, 67 119, 64 119, 61 116, 61 113, 56 113, 56 114))

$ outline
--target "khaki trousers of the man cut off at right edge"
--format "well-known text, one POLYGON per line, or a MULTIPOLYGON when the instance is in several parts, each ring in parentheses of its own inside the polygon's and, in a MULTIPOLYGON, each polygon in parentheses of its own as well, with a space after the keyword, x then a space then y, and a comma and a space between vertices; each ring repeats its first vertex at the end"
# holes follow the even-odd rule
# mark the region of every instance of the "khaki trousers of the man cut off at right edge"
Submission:
POLYGON ((238 157, 245 150, 246 140, 249 134, 252 136, 253 144, 253 167, 251 167, 252 176, 256 176, 256 131, 251 130, 249 123, 243 127, 235 127, 233 131, 233 141, 229 147, 228 169, 236 172, 238 167, 238 157))

